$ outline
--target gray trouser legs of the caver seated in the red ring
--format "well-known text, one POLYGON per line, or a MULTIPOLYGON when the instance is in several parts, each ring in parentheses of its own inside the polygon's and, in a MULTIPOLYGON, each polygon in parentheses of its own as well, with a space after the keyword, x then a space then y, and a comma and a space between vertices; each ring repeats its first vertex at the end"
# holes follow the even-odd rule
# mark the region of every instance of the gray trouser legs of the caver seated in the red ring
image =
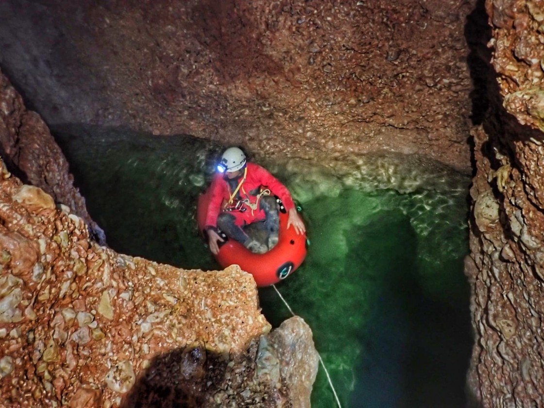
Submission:
MULTIPOLYGON (((258 229, 264 229, 267 233, 267 237, 269 237, 270 234, 277 234, 280 230, 280 211, 276 202, 276 197, 271 195, 262 196, 261 200, 259 200, 259 208, 264 211, 265 219, 256 220, 255 223, 252 223, 251 225, 256 224, 257 222, 262 223, 262 225, 258 226, 258 229)), ((251 211, 251 209, 247 209, 246 211, 251 211)), ((242 244, 253 239, 245 231, 245 226, 240 227, 236 225, 235 222, 236 217, 230 212, 221 213, 217 218, 218 228, 227 234, 228 237, 235 239, 242 244)))

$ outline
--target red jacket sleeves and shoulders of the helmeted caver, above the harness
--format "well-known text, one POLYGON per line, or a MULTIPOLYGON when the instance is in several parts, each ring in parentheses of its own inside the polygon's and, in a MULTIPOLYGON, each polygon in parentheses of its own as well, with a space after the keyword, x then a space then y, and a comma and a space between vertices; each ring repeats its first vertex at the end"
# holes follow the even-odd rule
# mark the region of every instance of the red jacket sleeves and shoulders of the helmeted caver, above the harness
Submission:
MULTIPOLYGON (((248 163, 246 166, 248 172, 238 195, 241 195, 243 199, 248 198, 251 203, 255 203, 257 196, 250 194, 250 191, 258 191, 260 187, 268 188, 271 194, 280 197, 287 211, 295 207, 289 190, 276 177, 258 164, 248 163)), ((210 189, 212 190, 212 200, 209 203, 205 225, 206 227, 216 227, 217 217, 224 208, 224 203, 230 199, 234 191, 231 191, 228 187, 224 175, 219 173, 214 176, 210 189)))

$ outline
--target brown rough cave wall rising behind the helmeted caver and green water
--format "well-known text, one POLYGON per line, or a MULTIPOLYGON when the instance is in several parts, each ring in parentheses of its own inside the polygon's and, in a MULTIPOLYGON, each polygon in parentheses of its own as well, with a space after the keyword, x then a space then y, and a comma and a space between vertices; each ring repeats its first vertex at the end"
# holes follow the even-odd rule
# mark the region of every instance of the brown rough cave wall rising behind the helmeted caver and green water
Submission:
POLYGON ((0 2, 0 65, 55 123, 470 167, 475 0, 0 2))

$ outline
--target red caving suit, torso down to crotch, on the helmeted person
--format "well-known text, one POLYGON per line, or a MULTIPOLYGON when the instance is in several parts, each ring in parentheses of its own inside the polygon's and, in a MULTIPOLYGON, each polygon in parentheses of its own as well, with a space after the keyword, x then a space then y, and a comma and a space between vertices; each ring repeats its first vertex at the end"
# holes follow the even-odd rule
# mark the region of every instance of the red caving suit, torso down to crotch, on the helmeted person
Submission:
MULTIPOLYGON (((291 194, 287 187, 277 180, 276 177, 271 175, 267 170, 255 163, 248 163, 246 168, 242 170, 242 176, 238 179, 243 180, 245 174, 245 180, 242 186, 238 189, 238 193, 233 197, 231 203, 231 195, 234 193, 229 187, 229 183, 226 180, 226 176, 222 174, 216 174, 213 178, 212 185, 210 187, 212 191, 212 199, 209 203, 208 213, 206 215, 206 228, 217 227, 217 218, 221 211, 229 211, 231 209, 232 215, 236 217, 236 224, 244 226, 251 224, 251 222, 264 220, 265 214, 258 206, 259 192, 268 189, 270 194, 277 195, 283 202, 285 209, 289 211, 295 207, 291 194), (244 204, 241 208, 245 208, 245 211, 236 211, 236 203, 239 201, 248 200, 250 205, 244 204), (257 204, 256 209, 252 209, 251 205, 257 204)), ((236 183, 238 184, 238 183, 236 183)), ((240 206, 239 206, 240 207, 240 206)))

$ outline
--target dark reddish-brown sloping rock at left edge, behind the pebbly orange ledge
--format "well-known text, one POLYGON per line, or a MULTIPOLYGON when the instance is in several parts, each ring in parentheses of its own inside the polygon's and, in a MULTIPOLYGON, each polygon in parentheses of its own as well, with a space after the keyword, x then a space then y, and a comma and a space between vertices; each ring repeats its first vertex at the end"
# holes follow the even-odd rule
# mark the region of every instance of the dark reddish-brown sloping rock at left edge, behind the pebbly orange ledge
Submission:
POLYGON ((0 157, 10 171, 40 187, 56 202, 73 208, 88 224, 92 236, 104 243, 104 233, 92 221, 85 200, 73 186, 68 162, 45 122, 27 110, 22 97, 0 71, 0 157))

